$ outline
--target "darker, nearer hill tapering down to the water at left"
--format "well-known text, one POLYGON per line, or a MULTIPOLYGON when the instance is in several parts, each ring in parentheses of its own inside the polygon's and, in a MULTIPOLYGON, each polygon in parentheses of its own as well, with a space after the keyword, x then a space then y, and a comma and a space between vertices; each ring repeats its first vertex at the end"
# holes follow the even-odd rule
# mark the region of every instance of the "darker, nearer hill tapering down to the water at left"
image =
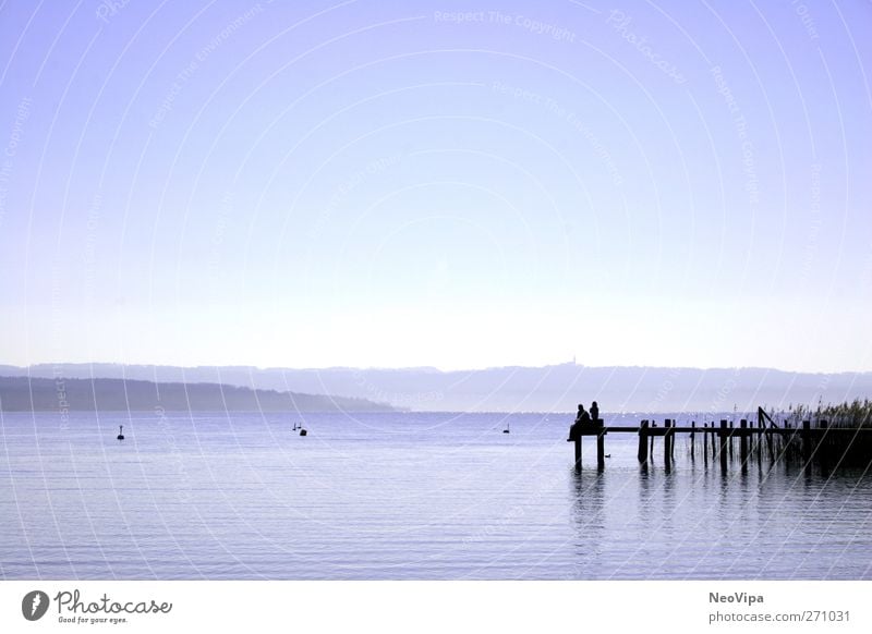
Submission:
POLYGON ((252 390, 219 383, 153 382, 113 378, 0 377, 3 412, 69 411, 390 411, 364 399, 252 390))

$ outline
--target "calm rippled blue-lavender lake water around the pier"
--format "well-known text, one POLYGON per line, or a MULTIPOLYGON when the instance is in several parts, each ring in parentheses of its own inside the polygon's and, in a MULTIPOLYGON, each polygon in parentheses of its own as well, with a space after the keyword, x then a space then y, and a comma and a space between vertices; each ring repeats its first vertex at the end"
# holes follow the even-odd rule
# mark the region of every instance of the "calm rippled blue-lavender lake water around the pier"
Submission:
POLYGON ((3 578, 872 578, 872 477, 722 474, 681 437, 643 473, 633 435, 576 474, 569 416, 0 423, 3 578))

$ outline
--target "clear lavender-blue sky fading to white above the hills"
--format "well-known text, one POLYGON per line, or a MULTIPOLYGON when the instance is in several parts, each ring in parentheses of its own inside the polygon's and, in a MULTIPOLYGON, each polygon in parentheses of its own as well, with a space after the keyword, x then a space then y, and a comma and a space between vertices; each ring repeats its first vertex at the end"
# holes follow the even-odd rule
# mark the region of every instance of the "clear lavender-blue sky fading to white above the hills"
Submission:
POLYGON ((872 370, 872 3, 0 5, 0 363, 872 370))

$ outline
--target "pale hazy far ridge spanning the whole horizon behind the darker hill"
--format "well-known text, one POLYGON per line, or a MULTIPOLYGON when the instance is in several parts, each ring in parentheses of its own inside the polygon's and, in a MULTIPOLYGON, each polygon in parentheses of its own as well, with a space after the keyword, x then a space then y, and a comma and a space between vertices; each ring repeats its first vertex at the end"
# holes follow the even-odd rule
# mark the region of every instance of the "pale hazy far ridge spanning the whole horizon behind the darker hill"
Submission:
MULTIPOLYGON (((435 368, 289 369, 113 364, 0 366, 0 375, 158 382, 225 383, 278 392, 338 394, 413 411, 572 412, 600 402, 603 412, 755 411, 872 398, 872 373, 812 374, 770 368, 499 367, 468 371, 435 368)), ((286 397, 287 398, 287 397, 286 397)))

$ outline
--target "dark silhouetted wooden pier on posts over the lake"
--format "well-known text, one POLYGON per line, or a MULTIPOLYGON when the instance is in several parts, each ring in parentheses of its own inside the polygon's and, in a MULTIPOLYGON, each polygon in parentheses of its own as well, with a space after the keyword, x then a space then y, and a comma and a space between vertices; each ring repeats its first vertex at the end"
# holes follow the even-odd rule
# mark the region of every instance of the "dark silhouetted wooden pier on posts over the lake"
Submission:
POLYGON ((666 468, 669 468, 675 461, 676 435, 689 435, 690 455, 691 459, 695 459, 697 436, 701 434, 705 464, 708 464, 708 449, 711 446, 712 460, 719 461, 720 468, 726 470, 734 454, 732 446, 735 439, 739 440, 739 459, 742 468, 746 468, 752 451, 756 453, 758 460, 762 459, 764 443, 770 461, 774 462, 776 459, 773 450, 774 437, 782 437, 788 442, 799 439, 801 441, 802 461, 808 464, 815 454, 815 448, 824 438, 848 434, 856 436, 872 434, 872 427, 829 427, 826 420, 820 420, 819 427, 812 427, 810 420, 803 420, 802 427, 790 427, 788 424, 785 424, 784 427, 778 427, 762 409, 758 412, 756 426, 742 418, 739 420, 738 427, 734 427, 732 423, 725 419, 720 420, 718 426, 715 426, 714 423, 711 426, 705 423, 702 427, 698 427, 697 423, 692 422, 690 426, 679 427, 676 420, 666 418, 662 427, 657 427, 655 422, 649 419, 642 420, 638 427, 611 427, 605 425, 602 418, 597 418, 591 422, 590 425, 577 429, 574 437, 567 440, 568 442, 574 442, 577 470, 581 468, 581 444, 585 436, 596 437, 596 467, 600 471, 605 468, 605 440, 609 434, 638 435, 639 450, 637 458, 643 465, 647 465, 654 458, 654 439, 663 438, 663 464, 666 468))

